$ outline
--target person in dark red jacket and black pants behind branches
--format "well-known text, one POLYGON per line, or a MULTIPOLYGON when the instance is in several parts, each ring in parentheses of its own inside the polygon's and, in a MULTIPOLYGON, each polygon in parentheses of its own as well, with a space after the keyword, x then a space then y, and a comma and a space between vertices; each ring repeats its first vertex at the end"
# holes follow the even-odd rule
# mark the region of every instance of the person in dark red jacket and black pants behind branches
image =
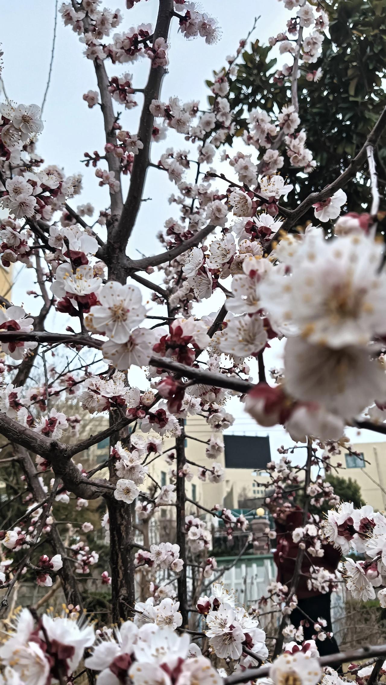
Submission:
MULTIPOLYGON (((293 542, 292 532, 295 528, 303 526, 303 511, 297 505, 291 505, 290 508, 278 507, 274 502, 267 504, 267 507, 272 514, 276 514, 276 551, 274 551, 274 562, 278 568, 277 581, 290 588, 299 549, 298 543, 293 542)), ((305 621, 302 624, 304 640, 311 640, 313 635, 315 635, 314 624, 317 623, 318 619, 324 619, 327 622, 324 632, 333 632, 331 625, 331 593, 323 594, 315 588, 310 590, 307 584, 311 566, 322 566, 330 573, 334 573, 337 569, 341 557, 339 551, 328 543, 322 545, 322 547, 324 549, 324 556, 322 557, 311 557, 304 551, 298 586, 295 590, 295 594, 298 597, 298 607, 291 612, 290 620, 295 627, 299 627, 300 621, 305 621), (311 620, 307 620, 307 616, 311 620)), ((334 636, 326 637, 325 640, 317 640, 317 649, 320 656, 339 652, 334 636)))

